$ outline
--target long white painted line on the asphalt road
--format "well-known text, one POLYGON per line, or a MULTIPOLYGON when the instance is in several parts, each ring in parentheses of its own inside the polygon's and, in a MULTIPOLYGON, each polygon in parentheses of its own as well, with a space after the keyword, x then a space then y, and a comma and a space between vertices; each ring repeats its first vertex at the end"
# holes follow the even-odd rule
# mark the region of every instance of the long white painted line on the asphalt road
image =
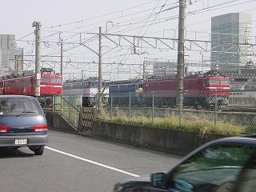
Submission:
POLYGON ((106 165, 104 165, 104 164, 102 164, 102 163, 100 163, 100 162, 94 162, 94 161, 92 161, 92 160, 90 160, 90 159, 81 158, 81 157, 78 157, 78 156, 76 156, 76 155, 74 155, 74 154, 68 154, 68 153, 66 153, 66 152, 64 152, 64 151, 62 151, 62 150, 55 150, 54 148, 51 148, 51 147, 49 147, 49 146, 45 146, 45 149, 47 149, 47 150, 53 150, 53 151, 55 151, 55 152, 57 152, 57 153, 59 153, 59 154, 65 154, 65 155, 67 155, 67 156, 70 156, 71 158, 77 158, 77 159, 82 160, 82 161, 84 161, 84 162, 90 162, 90 163, 92 163, 92 164, 94 164, 94 165, 96 165, 96 166, 102 166, 102 167, 105 167, 105 168, 110 169, 110 170, 115 170, 115 171, 118 171, 118 172, 120 172, 120 173, 122 173, 122 174, 128 174, 128 175, 133 176, 133 177, 135 177, 135 178, 141 177, 141 176, 138 175, 138 174, 131 174, 131 173, 125 171, 125 170, 119 170, 118 168, 114 168, 113 166, 106 166, 106 165))

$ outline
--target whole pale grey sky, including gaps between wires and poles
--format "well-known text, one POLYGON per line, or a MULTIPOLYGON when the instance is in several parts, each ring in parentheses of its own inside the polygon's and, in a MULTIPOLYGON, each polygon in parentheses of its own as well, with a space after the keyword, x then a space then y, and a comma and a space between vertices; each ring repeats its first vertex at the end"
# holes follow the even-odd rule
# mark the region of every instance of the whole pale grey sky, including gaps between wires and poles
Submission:
MULTIPOLYGON (((178 33, 178 9, 164 11, 168 8, 177 5, 177 0, 142 0, 142 1, 118 1, 118 0, 8 0, 1 2, 0 17, 0 34, 15 34, 16 39, 22 38, 26 34, 33 32, 32 22, 42 22, 42 38, 44 41, 58 41, 58 31, 61 32, 60 36, 66 41, 78 41, 78 36, 71 37, 76 33, 82 32, 98 32, 98 26, 102 26, 103 32, 108 26, 109 33, 116 34, 134 34, 134 35, 148 35, 155 37, 171 37, 177 38, 178 33), (40 2, 40 3, 39 3, 40 2), (165 6, 163 6, 165 5, 165 6), (163 7, 162 7, 163 6, 163 7), (123 10, 122 12, 116 12, 123 10), (139 13, 141 12, 141 13, 139 13), (102 17, 93 18, 98 15, 109 14, 102 17), (174 19, 170 19, 174 18, 174 19), (87 19, 87 20, 86 20, 87 19), (165 21, 166 20, 166 21, 165 21), (80 22, 77 22, 80 21, 80 22), (81 22, 82 21, 82 22, 81 22), (107 23, 106 22, 112 22, 107 23), (71 23, 70 23, 71 22, 71 23), (70 23, 70 24, 68 24, 70 23), (137 24, 136 24, 137 23, 137 24), (64 24, 64 25, 62 25, 64 24), (113 24, 113 25, 112 25, 113 24), (58 26, 61 25, 61 26, 58 26), (47 28, 54 26, 53 28, 47 28), (63 31, 69 32, 63 32, 63 31), (57 32, 57 33, 56 33, 57 32), (73 34, 72 34, 73 33, 73 34)), ((193 5, 187 6, 186 30, 197 31, 197 38, 208 40, 210 37, 210 18, 218 14, 226 14, 230 12, 245 12, 252 14, 252 35, 255 35, 255 19, 256 19, 256 0, 194 0, 193 5), (216 6, 220 3, 230 2, 230 4, 223 6, 216 6), (235 5, 239 4, 239 5, 235 5), (211 10, 207 11, 209 9, 211 10), (195 14, 191 12, 196 11, 195 14)), ((187 32, 187 38, 193 38, 194 32, 187 32)), ((92 38, 91 36, 84 35, 85 39, 92 38)), ((17 42, 18 46, 25 47, 26 54, 34 54, 34 44, 26 42, 26 40, 34 40, 34 35, 30 34, 26 38, 22 38, 25 42, 17 42)), ((88 46, 97 50, 97 39, 88 43, 88 46)), ((104 42, 105 46, 110 45, 110 42, 104 42)), ((66 60, 72 62, 97 62, 98 58, 95 54, 90 53, 84 47, 74 48, 74 45, 64 45, 64 56, 66 60)), ((107 48, 106 48, 107 50, 107 48)), ((144 58, 162 58, 162 59, 176 59, 177 50, 149 50, 144 49, 142 55, 130 54, 129 47, 116 48, 113 52, 104 55, 104 62, 122 62, 122 63, 141 63, 144 58)), ((57 43, 45 43, 42 45, 42 54, 59 55, 59 46, 57 43)), ((188 59, 201 58, 202 53, 187 53, 188 59)), ((205 58, 209 57, 210 53, 205 54, 205 58)), ((28 58, 33 60, 33 57, 28 58)), ((26 63, 27 68, 33 68, 33 62, 26 63)), ((58 65, 48 62, 45 65, 51 65, 58 68, 58 65)), ((84 66, 85 70, 90 68, 91 71, 96 70, 96 66, 84 66)), ((112 71, 116 72, 117 66, 111 66, 112 71)), ((106 66, 106 69, 110 66, 106 66)), ((121 68, 121 67, 119 67, 121 68)), ((128 67, 129 68, 129 67, 128 67)), ((122 66, 124 74, 127 74, 128 68, 122 66)), ((120 69, 118 69, 120 71, 120 69)), ((132 70, 135 70, 134 68, 132 70)), ((138 69, 137 69, 138 70, 138 69)), ((66 66, 65 71, 79 72, 81 69, 66 66)), ((88 76, 95 75, 96 72, 89 73, 88 76)), ((113 72, 114 73, 114 72, 113 72)), ((132 74, 133 76, 135 74, 132 74)), ((106 75, 106 78, 113 78, 113 74, 106 75)), ((115 77, 116 78, 116 77, 115 77)))

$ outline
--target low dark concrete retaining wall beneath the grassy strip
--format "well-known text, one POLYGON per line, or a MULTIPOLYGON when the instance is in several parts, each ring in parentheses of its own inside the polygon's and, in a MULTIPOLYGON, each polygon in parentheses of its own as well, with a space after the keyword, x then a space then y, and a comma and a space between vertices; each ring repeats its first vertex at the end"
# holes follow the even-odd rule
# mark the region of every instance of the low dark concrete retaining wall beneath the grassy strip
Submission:
POLYGON ((112 122, 94 122, 91 135, 133 146, 182 155, 190 153, 205 142, 224 137, 214 134, 201 138, 197 133, 186 131, 129 126, 112 122))

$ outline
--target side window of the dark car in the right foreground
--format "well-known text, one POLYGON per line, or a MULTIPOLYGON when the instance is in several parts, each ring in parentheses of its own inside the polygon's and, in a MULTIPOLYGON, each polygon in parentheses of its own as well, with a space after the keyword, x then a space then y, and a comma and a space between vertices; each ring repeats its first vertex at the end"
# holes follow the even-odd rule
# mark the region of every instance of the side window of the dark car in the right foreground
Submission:
POLYGON ((172 187, 186 192, 229 192, 253 151, 249 146, 206 148, 174 170, 172 187))

